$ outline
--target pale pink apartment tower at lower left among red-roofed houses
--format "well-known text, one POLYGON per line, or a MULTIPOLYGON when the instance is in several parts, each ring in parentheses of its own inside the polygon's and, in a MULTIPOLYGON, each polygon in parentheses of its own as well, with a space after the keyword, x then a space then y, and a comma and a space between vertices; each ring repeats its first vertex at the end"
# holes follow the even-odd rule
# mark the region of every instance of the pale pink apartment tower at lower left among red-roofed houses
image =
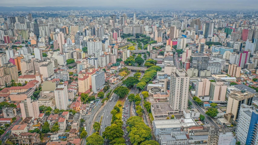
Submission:
POLYGON ((31 97, 26 98, 20 102, 22 120, 26 117, 38 118, 39 106, 38 100, 33 100, 31 97))

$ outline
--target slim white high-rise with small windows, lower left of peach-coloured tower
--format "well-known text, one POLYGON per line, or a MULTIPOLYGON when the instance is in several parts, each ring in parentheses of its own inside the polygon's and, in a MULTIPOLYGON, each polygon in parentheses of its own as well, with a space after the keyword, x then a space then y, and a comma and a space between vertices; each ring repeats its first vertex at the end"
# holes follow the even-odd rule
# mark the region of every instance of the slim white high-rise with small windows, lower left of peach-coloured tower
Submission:
POLYGON ((57 109, 67 109, 68 106, 68 92, 66 85, 58 85, 55 89, 55 101, 57 109))

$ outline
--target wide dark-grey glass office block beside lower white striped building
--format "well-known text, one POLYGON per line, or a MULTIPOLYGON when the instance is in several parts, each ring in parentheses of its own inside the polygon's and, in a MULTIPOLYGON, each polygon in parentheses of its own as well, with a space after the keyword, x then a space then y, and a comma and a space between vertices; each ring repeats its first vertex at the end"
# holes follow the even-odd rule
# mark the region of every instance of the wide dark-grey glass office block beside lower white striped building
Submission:
POLYGON ((190 68, 207 70, 209 56, 204 56, 204 53, 194 53, 190 56, 190 68))

